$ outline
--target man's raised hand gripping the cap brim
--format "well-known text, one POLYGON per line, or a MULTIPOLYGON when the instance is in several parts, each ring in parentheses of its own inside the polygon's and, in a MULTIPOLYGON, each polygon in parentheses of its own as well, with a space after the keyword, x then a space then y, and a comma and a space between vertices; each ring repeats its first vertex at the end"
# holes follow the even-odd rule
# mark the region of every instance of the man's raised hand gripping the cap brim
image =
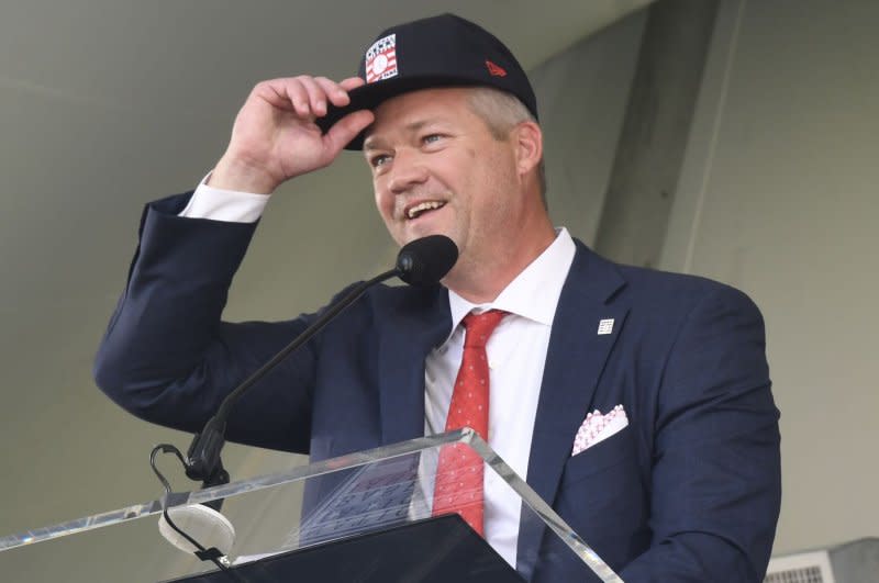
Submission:
POLYGON ((210 186, 267 194, 286 180, 330 165, 372 123, 372 113, 349 113, 325 135, 314 120, 326 114, 330 103, 347 105, 348 91, 364 82, 359 77, 336 83, 302 75, 258 83, 235 119, 210 186))

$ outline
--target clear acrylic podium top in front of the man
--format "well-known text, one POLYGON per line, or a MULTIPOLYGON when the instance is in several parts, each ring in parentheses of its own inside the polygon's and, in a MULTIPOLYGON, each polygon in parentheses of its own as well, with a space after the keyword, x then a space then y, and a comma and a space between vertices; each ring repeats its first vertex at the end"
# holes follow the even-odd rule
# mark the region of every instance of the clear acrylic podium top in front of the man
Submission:
MULTIPOLYGON (((549 542, 554 549, 548 560, 575 562, 582 565, 585 573, 591 571, 598 581, 621 581, 548 504, 467 428, 222 486, 174 493, 165 502, 174 512, 174 508, 191 504, 223 500, 222 513, 235 530, 235 542, 226 559, 230 564, 241 565, 233 569, 242 572, 247 563, 270 561, 270 557, 280 553, 294 558, 304 552, 319 551, 327 557, 335 552, 336 562, 342 565, 347 562, 344 552, 349 547, 346 545, 356 537, 405 541, 405 535, 399 534, 396 539, 377 537, 398 529, 403 529, 400 532, 421 531, 422 523, 437 520, 432 518, 431 512, 436 461, 443 447, 455 445, 472 448, 482 460, 486 480, 511 489, 522 500, 521 528, 542 531, 537 538, 543 541, 541 547, 549 542), (320 496, 315 497, 314 492, 321 492, 320 496), (304 512, 303 506, 308 508, 304 512), (336 552, 334 548, 340 550, 336 552)), ((163 467, 169 464, 165 462, 163 467)), ((162 509, 163 500, 156 500, 2 537, 0 578, 20 582, 137 583, 185 580, 189 575, 215 571, 212 563, 175 548, 159 535, 157 519, 162 509)), ((460 525, 465 526, 463 522, 460 525)), ((476 536, 471 531, 468 534, 476 536)), ((456 538, 460 537, 456 535, 456 538)), ((429 561, 420 565, 416 574, 410 573, 404 579, 433 581, 425 575, 430 564, 442 562, 454 546, 435 545, 429 561)), ((370 564, 398 561, 401 553, 408 552, 399 542, 379 548, 370 564)), ((486 549, 493 554, 487 546, 486 549)), ((526 565, 520 564, 523 580, 532 576, 534 564, 527 564, 536 562, 536 553, 535 549, 534 557, 519 557, 519 562, 526 565)), ((505 568, 502 558, 494 559, 505 568)), ((507 562, 511 560, 507 558, 507 562)), ((345 568, 346 572, 358 574, 340 575, 340 580, 360 580, 358 565, 345 568)), ((474 581, 479 580, 478 573, 471 574, 474 581)), ((216 581, 234 581, 227 573, 218 575, 226 579, 221 576, 216 581)), ((289 581, 311 580, 291 576, 289 581)))

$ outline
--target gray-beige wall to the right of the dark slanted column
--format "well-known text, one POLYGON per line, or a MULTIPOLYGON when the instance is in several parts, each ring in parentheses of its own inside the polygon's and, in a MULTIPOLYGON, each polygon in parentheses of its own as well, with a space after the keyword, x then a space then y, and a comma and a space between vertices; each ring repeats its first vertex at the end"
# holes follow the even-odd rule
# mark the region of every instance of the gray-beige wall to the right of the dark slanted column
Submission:
POLYGON ((879 3, 721 3, 663 267, 749 293, 781 410, 776 552, 879 535, 879 3))

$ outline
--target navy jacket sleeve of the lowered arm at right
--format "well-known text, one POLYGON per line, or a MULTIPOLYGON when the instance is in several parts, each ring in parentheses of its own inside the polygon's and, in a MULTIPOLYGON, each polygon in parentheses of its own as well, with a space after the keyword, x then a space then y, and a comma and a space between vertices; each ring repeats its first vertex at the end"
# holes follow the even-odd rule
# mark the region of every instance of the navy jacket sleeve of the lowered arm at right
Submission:
POLYGON ((620 575, 759 582, 781 478, 757 307, 731 288, 709 292, 680 327, 663 379, 653 419, 653 541, 620 575))

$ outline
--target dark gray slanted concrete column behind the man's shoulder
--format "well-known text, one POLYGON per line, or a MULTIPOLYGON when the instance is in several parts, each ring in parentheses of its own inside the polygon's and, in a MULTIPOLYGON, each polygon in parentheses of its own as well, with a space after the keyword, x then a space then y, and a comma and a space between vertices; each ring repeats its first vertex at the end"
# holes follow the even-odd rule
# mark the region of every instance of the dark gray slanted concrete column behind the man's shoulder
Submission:
POLYGON ((659 262, 717 1, 648 10, 596 239, 605 257, 645 267, 659 262))

